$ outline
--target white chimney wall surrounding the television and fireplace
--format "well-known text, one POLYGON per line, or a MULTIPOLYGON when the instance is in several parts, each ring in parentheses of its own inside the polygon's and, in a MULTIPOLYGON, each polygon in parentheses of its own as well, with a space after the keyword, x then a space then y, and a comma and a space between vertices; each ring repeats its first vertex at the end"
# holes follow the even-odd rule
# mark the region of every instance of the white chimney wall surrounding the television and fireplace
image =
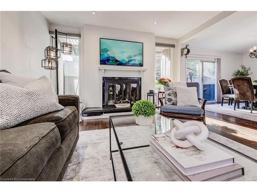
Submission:
MULTIPOLYGON (((153 33, 144 33, 130 30, 122 30, 93 25, 84 25, 81 32, 81 53, 83 59, 80 62, 80 99, 86 106, 102 106, 100 98, 102 92, 99 89, 99 38, 112 38, 143 42, 143 68, 144 81, 142 84, 142 99, 146 98, 146 92, 155 88, 155 36, 153 33)), ((124 66, 116 66, 123 68, 124 66)))

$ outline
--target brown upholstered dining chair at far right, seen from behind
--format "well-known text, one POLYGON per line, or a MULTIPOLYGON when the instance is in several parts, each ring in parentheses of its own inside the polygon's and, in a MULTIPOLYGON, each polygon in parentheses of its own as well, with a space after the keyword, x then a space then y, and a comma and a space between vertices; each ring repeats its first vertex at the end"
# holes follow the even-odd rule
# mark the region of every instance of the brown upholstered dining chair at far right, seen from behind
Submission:
MULTIPOLYGON (((254 95, 254 90, 252 86, 252 81, 250 77, 235 77, 232 78, 232 84, 235 95, 235 105, 236 102, 240 101, 250 101, 251 102, 251 113, 253 109, 253 102, 257 101, 257 96, 254 95)), ((234 105, 234 110, 235 110, 234 105)))

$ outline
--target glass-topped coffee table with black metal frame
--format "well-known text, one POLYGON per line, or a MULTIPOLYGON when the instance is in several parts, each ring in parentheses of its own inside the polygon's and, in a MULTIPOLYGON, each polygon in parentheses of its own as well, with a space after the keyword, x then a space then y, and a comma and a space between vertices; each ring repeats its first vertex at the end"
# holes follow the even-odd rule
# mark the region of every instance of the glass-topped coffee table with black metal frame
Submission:
MULTIPOLYGON (((137 125, 133 115, 109 117, 109 148, 115 181, 182 181, 150 147, 152 134, 163 134, 173 128, 173 120, 156 114, 149 126, 137 125)), ((220 140, 219 140, 220 141, 220 140)), ((245 175, 235 181, 256 181, 257 161, 211 138, 207 142, 231 154, 244 166, 245 175)))

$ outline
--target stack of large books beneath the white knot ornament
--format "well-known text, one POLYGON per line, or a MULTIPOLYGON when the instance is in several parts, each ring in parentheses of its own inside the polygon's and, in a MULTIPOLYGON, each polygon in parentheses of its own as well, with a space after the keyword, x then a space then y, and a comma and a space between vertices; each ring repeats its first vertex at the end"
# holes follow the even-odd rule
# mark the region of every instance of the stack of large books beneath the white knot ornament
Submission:
POLYGON ((234 157, 205 142, 206 150, 180 148, 166 134, 152 135, 150 146, 184 181, 229 181, 244 175, 234 157))

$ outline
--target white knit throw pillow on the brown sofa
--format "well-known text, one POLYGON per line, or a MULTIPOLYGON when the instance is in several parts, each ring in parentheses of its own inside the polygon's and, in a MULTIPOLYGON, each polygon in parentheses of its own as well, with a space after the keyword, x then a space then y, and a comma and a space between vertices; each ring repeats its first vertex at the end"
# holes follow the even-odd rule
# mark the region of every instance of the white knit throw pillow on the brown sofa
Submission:
POLYGON ((24 88, 0 83, 0 90, 0 130, 64 108, 57 103, 57 95, 46 76, 24 88))

